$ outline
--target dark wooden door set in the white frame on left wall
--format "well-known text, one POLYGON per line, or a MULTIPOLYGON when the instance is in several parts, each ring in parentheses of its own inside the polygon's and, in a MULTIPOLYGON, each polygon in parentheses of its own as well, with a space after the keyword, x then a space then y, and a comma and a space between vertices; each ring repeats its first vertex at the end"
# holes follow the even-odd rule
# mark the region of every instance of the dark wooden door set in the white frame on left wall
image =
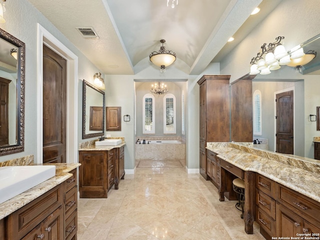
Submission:
POLYGON ((66 60, 43 45, 43 163, 66 162, 66 60))

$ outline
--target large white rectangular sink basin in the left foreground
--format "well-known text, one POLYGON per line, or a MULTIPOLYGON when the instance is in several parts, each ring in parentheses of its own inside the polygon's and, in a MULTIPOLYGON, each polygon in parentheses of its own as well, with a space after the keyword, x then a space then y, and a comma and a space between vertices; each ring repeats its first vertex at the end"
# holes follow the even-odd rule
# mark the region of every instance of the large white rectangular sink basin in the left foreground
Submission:
POLYGON ((0 167, 0 203, 54 175, 54 165, 0 167))

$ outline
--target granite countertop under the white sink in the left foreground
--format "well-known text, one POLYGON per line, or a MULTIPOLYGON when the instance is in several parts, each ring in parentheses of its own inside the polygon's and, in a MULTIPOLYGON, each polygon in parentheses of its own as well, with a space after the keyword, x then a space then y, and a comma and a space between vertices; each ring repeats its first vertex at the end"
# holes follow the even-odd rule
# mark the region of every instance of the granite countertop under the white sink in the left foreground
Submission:
POLYGON ((62 183, 72 176, 69 171, 78 167, 79 163, 47 163, 47 165, 55 165, 55 176, 46 181, 0 203, 0 219, 11 214, 20 207, 26 205, 30 201, 39 197, 43 193, 62 183))

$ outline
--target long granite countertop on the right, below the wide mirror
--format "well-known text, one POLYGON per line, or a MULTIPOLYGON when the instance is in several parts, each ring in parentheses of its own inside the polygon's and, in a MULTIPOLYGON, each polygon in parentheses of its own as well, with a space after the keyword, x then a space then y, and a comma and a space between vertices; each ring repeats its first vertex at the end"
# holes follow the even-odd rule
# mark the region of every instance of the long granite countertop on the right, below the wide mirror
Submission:
POLYGON ((207 142, 206 148, 244 171, 257 172, 320 202, 320 163, 314 159, 227 142, 207 142))

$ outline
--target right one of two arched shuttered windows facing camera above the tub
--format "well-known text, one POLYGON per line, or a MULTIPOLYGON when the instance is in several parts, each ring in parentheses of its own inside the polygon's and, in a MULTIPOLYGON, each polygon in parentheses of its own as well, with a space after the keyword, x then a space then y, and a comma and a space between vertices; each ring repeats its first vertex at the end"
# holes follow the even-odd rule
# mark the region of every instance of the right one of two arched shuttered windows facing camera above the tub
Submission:
POLYGON ((175 134, 175 96, 171 93, 163 97, 163 133, 175 134))

